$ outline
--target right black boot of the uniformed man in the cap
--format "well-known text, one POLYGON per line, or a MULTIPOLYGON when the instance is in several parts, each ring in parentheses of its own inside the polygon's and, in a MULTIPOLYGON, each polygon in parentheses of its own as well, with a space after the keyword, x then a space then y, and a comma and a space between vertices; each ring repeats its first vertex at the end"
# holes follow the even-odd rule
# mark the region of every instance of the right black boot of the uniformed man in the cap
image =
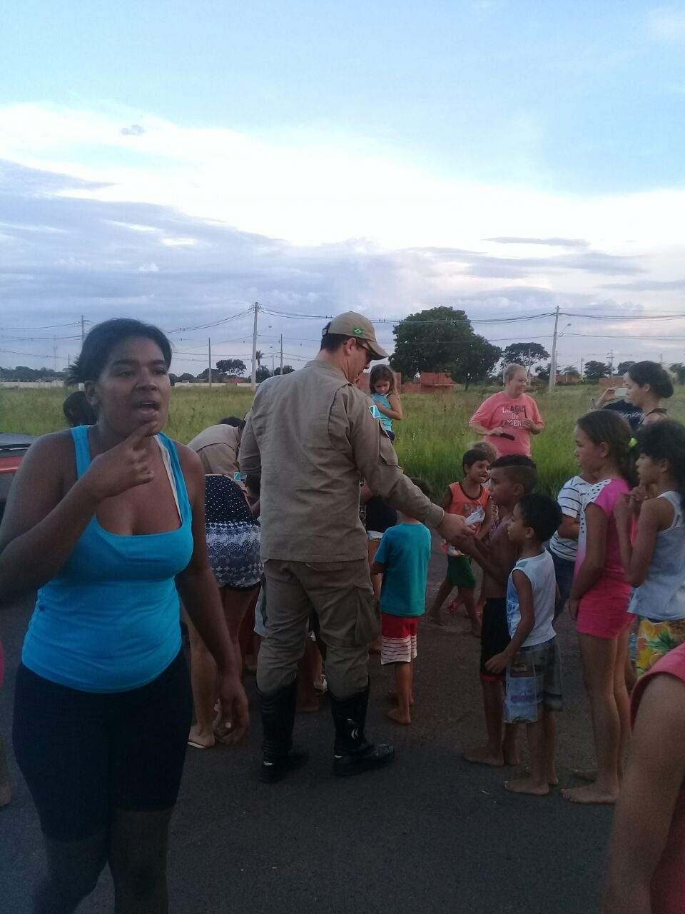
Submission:
POLYGON ((370 686, 349 698, 336 698, 329 687, 335 747, 333 749, 333 774, 348 778, 374 768, 385 768, 395 759, 395 748, 385 744, 375 745, 364 736, 366 708, 369 704, 370 686))

